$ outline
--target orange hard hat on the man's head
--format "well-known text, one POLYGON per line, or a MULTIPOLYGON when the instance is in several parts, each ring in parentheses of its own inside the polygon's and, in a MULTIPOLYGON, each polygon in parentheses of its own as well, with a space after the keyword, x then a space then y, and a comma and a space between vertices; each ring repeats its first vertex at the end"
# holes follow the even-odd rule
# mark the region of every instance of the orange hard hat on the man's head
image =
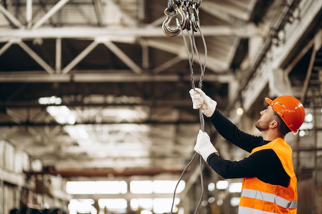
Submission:
POLYGON ((305 110, 301 102, 289 95, 279 96, 273 101, 265 98, 265 101, 272 106, 291 131, 296 133, 305 118, 305 110))

